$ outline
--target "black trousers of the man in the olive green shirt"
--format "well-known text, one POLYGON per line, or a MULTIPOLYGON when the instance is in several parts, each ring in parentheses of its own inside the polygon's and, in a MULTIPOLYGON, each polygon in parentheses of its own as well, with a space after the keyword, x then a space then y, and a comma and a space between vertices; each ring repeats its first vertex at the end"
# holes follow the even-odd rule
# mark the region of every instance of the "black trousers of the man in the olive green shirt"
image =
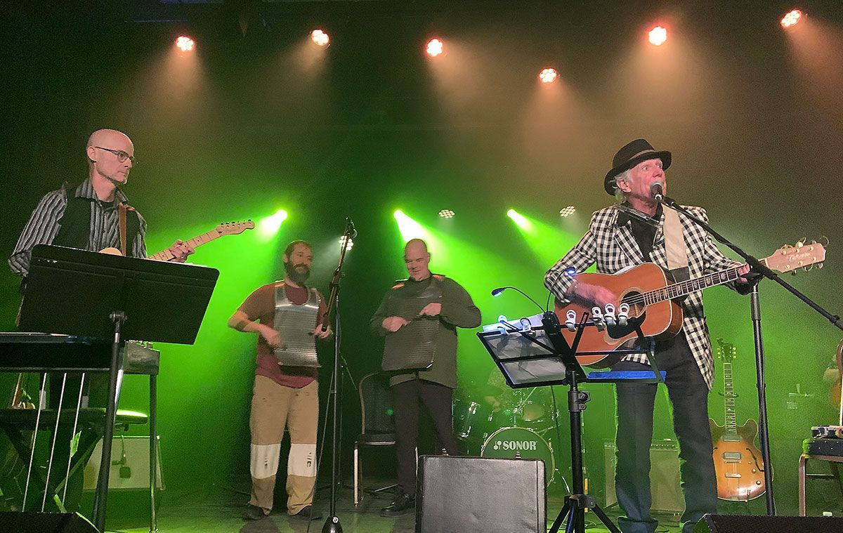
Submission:
POLYGON ((432 381, 410 380, 392 386, 395 410, 395 455, 398 459, 398 487, 416 495, 416 441, 419 435, 419 403, 427 408, 436 436, 436 450, 458 455, 451 417, 454 390, 432 381))

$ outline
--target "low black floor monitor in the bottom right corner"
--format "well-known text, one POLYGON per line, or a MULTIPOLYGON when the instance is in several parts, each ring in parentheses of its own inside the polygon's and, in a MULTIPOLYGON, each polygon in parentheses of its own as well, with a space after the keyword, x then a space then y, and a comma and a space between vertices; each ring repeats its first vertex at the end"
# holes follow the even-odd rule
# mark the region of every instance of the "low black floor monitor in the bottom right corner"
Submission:
POLYGON ((694 533, 832 533, 843 531, 843 518, 824 516, 753 516, 706 514, 694 533))

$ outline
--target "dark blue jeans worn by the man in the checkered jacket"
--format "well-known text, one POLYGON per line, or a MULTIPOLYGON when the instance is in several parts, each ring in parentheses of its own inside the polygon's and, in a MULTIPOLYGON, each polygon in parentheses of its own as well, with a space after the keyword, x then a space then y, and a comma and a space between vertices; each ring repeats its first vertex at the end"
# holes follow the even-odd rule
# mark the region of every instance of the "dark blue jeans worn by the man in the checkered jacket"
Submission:
MULTIPOLYGON (((685 334, 658 342, 656 363, 667 371, 665 383, 673 405, 674 431, 679 439, 679 471, 685 493, 682 530, 690 533, 706 513, 717 511, 717 478, 708 426, 708 387, 702 379, 685 334)), ((621 361, 613 370, 647 370, 642 363, 621 361)), ((618 519, 624 533, 652 533, 658 522, 650 516, 650 443, 653 402, 657 385, 617 385, 618 433, 615 492, 625 516, 618 519)))

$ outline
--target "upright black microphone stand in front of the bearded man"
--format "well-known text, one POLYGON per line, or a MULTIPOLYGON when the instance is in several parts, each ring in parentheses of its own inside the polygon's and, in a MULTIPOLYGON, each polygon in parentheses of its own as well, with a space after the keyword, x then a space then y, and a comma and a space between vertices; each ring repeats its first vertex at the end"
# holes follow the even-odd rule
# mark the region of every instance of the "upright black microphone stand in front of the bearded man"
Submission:
POLYGON ((339 450, 340 443, 337 438, 339 428, 339 414, 340 407, 337 400, 340 374, 340 342, 342 338, 342 328, 340 325, 340 280, 342 279, 342 266, 346 262, 346 251, 348 250, 348 241, 357 237, 357 231, 354 229, 354 223, 351 218, 346 218, 346 229, 343 231, 342 248, 340 250, 340 261, 336 266, 333 277, 330 278, 330 295, 328 297, 328 310, 325 312, 327 320, 322 323, 322 331, 328 331, 328 324, 330 322, 330 314, 334 313, 334 369, 332 370, 330 380, 330 391, 328 393, 328 408, 325 410, 325 416, 330 409, 332 414, 333 431, 331 434, 331 465, 330 465, 330 513, 325 519, 325 525, 322 526, 322 533, 342 533, 342 525, 340 517, 336 515, 336 487, 337 487, 337 468, 339 465, 339 450))

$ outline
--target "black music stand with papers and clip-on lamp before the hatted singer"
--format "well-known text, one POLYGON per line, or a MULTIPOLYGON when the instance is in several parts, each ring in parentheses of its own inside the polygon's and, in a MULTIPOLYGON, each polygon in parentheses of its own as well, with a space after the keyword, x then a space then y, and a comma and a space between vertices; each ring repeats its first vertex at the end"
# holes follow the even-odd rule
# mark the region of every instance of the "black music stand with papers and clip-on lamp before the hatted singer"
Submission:
MULTIPOLYGON (((614 382, 618 380, 634 379, 638 383, 663 383, 664 373, 656 366, 655 358, 648 351, 647 340, 641 331, 640 324, 633 324, 638 334, 638 342, 641 349, 614 350, 609 353, 645 353, 650 363, 652 374, 644 371, 640 373, 614 373, 614 372, 593 372, 586 375, 583 366, 577 361, 577 345, 583 336, 586 327, 596 326, 593 321, 588 320, 588 313, 584 313, 582 319, 576 324, 576 335, 572 345, 569 345, 565 336, 561 334, 561 325, 553 312, 546 312, 544 315, 537 315, 531 318, 523 318, 518 321, 518 326, 501 320, 501 326, 495 326, 491 331, 482 331, 477 336, 480 338, 486 350, 491 354, 492 359, 501 369, 507 384, 513 388, 535 387, 543 385, 568 385, 568 416, 571 422, 571 471, 573 492, 565 497, 565 504, 556 515, 550 533, 556 533, 567 520, 566 531, 585 533, 585 509, 592 509, 601 522, 612 533, 620 533, 618 527, 609 520, 609 516, 600 509, 593 496, 585 493, 585 481, 583 476, 583 424, 581 412, 585 410, 586 403, 591 399, 588 391, 579 390, 579 382, 588 382, 590 376, 594 376, 594 382, 614 382), (541 326, 536 325, 540 317, 541 326), (532 320, 531 320, 532 319, 532 320), (505 346, 508 342, 506 337, 512 337, 514 347, 505 346), (504 338, 503 345, 497 342, 504 338), (507 353, 508 352, 508 353, 507 353), (619 378, 600 376, 599 374, 627 374, 619 378), (631 374, 634 374, 632 377, 631 374), (641 375, 647 374, 647 375, 641 375)), ((592 353, 593 354, 593 353, 592 353)), ((608 353, 607 353, 608 354, 608 353)))

